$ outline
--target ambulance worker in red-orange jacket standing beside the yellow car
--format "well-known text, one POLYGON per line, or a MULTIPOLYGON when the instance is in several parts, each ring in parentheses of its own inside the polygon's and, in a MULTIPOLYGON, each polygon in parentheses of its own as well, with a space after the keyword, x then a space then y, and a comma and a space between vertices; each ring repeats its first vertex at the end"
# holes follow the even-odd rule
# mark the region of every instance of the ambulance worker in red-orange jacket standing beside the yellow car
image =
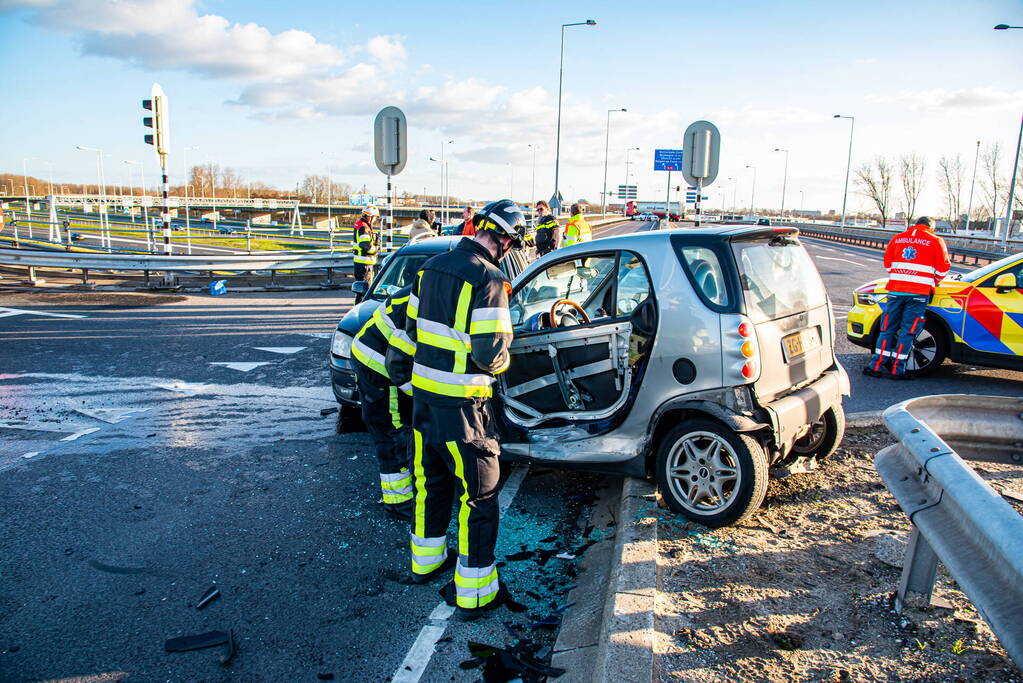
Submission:
POLYGON ((917 335, 924 329, 934 287, 948 275, 951 263, 945 240, 934 234, 931 219, 921 216, 885 249, 888 299, 881 333, 863 374, 908 379, 906 365, 917 335))

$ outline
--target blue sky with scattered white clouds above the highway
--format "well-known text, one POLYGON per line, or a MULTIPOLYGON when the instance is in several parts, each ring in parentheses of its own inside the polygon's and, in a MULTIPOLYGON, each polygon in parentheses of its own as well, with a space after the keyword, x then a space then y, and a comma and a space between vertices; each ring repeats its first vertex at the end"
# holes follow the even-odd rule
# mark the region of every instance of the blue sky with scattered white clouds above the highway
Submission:
MULTIPOLYGON (((109 181, 142 160, 138 101, 159 81, 171 99, 172 176, 219 162, 278 186, 304 173, 384 189, 371 164, 372 118, 402 106, 410 161, 399 189, 438 190, 429 161, 447 147, 453 193, 528 201, 553 186, 560 25, 566 32, 562 190, 599 200, 607 110, 608 184, 621 183, 625 149, 640 198, 664 195, 655 147, 680 146, 692 121, 722 133, 710 203, 781 202, 841 209, 848 122, 853 166, 876 154, 927 156, 922 206, 941 213, 935 174, 976 140, 1015 151, 1023 113, 1023 3, 990 2, 190 2, 0 0, 5 64, 0 170, 59 182, 91 181, 102 147, 109 181), (324 153, 326 152, 326 154, 324 153), (513 177, 514 176, 514 177, 513 177), (737 178, 735 183, 728 178, 737 178), (735 190, 735 191, 733 191, 735 190)), ((672 184, 675 184, 674 177, 672 184)), ((965 201, 965 197, 964 197, 965 201)), ((976 199, 975 199, 976 201, 976 199)), ((853 207, 866 200, 852 196, 853 207)))

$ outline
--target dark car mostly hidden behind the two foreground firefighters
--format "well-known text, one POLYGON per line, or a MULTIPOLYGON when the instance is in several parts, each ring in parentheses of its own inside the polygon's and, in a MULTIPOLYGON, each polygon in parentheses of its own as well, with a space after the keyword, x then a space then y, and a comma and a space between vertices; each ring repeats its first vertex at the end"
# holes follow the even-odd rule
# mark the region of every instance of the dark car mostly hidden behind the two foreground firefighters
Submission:
MULTIPOLYGON (((461 237, 432 237, 407 244, 388 256, 372 285, 368 287, 365 299, 353 306, 338 322, 330 338, 330 385, 335 398, 341 404, 339 426, 350 420, 360 419, 359 392, 352 367, 352 339, 385 299, 412 283, 415 274, 428 259, 450 251, 460 239, 461 237)), ((528 265, 521 252, 513 251, 501 261, 501 270, 511 280, 528 265)), ((353 289, 360 293, 363 287, 364 283, 356 282, 353 289)))

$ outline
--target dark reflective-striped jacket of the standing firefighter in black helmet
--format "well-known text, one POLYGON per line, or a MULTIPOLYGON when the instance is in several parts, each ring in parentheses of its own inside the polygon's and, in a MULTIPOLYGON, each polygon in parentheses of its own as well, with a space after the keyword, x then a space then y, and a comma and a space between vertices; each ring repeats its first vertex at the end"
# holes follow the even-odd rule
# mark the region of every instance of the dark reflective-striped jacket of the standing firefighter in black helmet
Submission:
MULTIPOLYGON (((422 266, 405 325, 415 345, 410 374, 416 401, 460 406, 493 396, 494 375, 510 362, 510 290, 493 256, 468 237, 422 266)), ((404 379, 396 375, 392 381, 404 379)))

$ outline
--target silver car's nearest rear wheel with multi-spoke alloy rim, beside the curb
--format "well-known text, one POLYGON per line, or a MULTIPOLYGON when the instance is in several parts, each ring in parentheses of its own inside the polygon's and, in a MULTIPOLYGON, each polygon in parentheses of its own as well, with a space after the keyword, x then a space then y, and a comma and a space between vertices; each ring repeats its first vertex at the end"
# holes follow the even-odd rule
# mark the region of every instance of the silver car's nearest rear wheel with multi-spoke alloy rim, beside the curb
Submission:
POLYGON ((749 518, 767 493, 767 454, 753 438, 708 419, 669 431, 657 454, 657 484, 668 506, 707 527, 749 518))

